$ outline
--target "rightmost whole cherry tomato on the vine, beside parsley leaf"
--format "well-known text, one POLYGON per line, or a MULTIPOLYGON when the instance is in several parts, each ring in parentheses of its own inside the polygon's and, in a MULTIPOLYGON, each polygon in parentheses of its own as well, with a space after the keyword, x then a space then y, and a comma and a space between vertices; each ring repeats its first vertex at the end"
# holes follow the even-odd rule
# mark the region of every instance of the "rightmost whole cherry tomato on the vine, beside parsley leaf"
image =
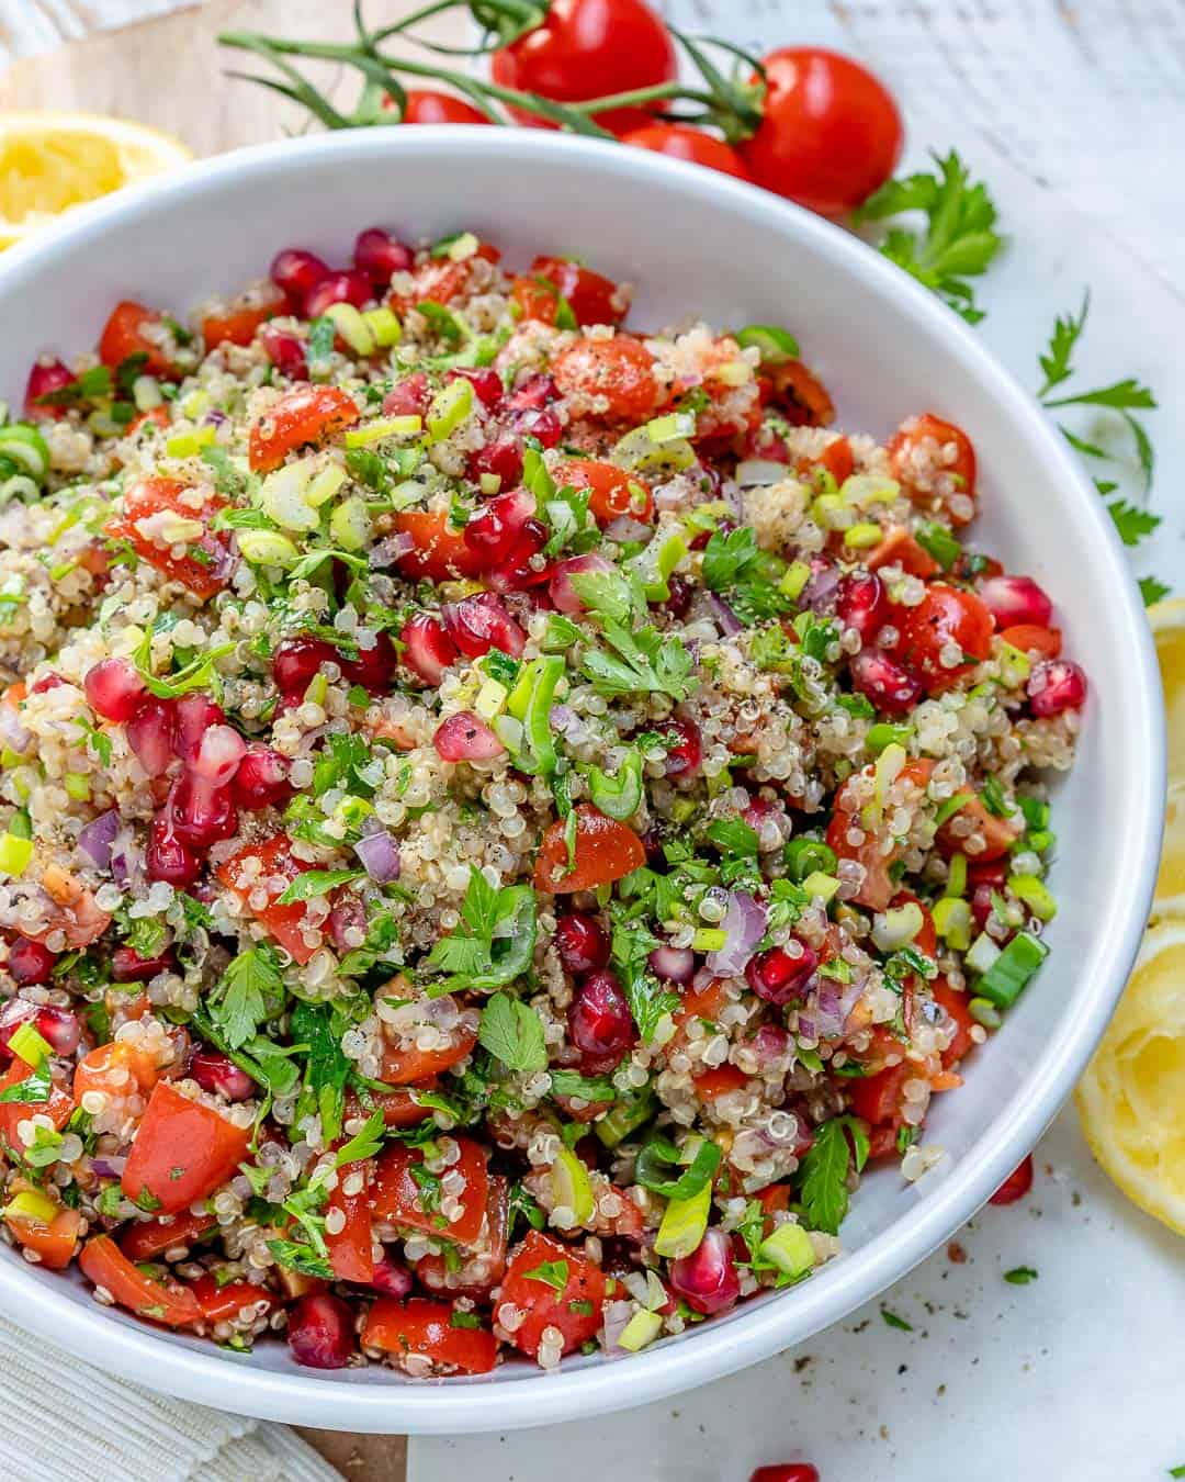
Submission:
POLYGON ((741 159, 758 185, 809 210, 853 210, 901 157, 898 105, 865 67, 822 47, 787 46, 764 67, 764 119, 741 159))

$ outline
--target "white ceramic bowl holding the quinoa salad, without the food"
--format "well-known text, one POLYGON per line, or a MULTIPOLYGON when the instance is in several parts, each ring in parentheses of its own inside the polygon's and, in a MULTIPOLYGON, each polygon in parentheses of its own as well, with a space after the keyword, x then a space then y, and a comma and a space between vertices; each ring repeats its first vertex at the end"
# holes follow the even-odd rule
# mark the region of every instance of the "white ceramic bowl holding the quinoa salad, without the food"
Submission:
POLYGON ((86 207, 0 258, 0 396, 30 362, 90 347, 111 305, 184 314, 259 277, 281 246, 342 261, 361 227, 406 236, 473 228, 511 262, 573 252, 637 283, 634 323, 687 314, 790 326, 838 402, 843 427, 887 436, 935 411, 972 436, 975 541, 1031 572, 1090 674, 1078 760, 1059 788, 1053 953, 1004 1029, 939 1097, 927 1141, 945 1159, 918 1186, 868 1177, 847 1254, 809 1282, 680 1338, 558 1374, 508 1363, 461 1381, 388 1369, 299 1369, 283 1344, 250 1358, 99 1307, 86 1283, 0 1248, 3 1312, 108 1372, 274 1420, 372 1432, 471 1432, 613 1411, 702 1384, 807 1338, 948 1239, 1032 1147, 1106 1024, 1136 951, 1160 846, 1160 683, 1139 603, 1101 501, 1031 396, 958 319, 837 228, 695 166, 597 141, 505 129, 376 129, 244 150, 86 207))

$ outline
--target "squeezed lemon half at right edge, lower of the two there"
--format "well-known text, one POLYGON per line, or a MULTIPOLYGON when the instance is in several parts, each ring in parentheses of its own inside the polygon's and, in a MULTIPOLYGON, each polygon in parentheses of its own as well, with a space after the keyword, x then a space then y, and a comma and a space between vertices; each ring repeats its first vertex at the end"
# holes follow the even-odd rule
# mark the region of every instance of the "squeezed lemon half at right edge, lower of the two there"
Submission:
POLYGON ((1104 1171, 1185 1235, 1185 920, 1164 920, 1144 938, 1075 1098, 1104 1171))

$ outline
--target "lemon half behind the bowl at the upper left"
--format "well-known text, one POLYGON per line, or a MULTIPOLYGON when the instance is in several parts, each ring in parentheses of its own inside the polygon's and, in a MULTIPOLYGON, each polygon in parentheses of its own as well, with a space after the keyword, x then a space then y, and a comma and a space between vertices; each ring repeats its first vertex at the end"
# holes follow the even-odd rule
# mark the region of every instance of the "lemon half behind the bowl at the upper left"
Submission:
POLYGON ((193 159, 179 139, 126 119, 0 113, 0 247, 71 206, 193 159))

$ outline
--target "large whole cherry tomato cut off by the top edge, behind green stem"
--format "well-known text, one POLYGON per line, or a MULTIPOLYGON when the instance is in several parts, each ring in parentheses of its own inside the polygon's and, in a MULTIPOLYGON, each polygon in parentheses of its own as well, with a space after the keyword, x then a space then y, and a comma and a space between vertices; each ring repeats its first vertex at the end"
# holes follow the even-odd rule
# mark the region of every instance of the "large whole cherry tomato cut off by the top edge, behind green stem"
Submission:
MULTIPOLYGON (((671 33, 643 0, 553 0, 547 19, 493 53, 493 80, 555 102, 584 102, 668 83, 678 73, 671 33)), ((658 104, 655 107, 659 107, 658 104)), ((555 124, 521 108, 518 123, 555 124)), ((637 129, 652 110, 613 108, 595 122, 613 133, 637 129)))

